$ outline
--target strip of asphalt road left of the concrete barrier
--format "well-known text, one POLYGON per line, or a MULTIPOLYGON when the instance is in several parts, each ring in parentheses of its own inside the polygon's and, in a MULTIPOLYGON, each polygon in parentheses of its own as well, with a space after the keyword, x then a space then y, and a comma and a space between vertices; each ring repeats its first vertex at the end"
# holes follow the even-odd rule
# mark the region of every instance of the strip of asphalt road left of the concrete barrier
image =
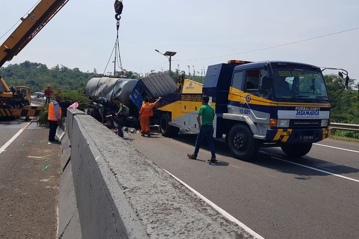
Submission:
MULTIPOLYGON (((0 149, 29 122, 0 122, 0 149)), ((0 238, 55 238, 61 148, 32 122, 0 151, 0 238)))

